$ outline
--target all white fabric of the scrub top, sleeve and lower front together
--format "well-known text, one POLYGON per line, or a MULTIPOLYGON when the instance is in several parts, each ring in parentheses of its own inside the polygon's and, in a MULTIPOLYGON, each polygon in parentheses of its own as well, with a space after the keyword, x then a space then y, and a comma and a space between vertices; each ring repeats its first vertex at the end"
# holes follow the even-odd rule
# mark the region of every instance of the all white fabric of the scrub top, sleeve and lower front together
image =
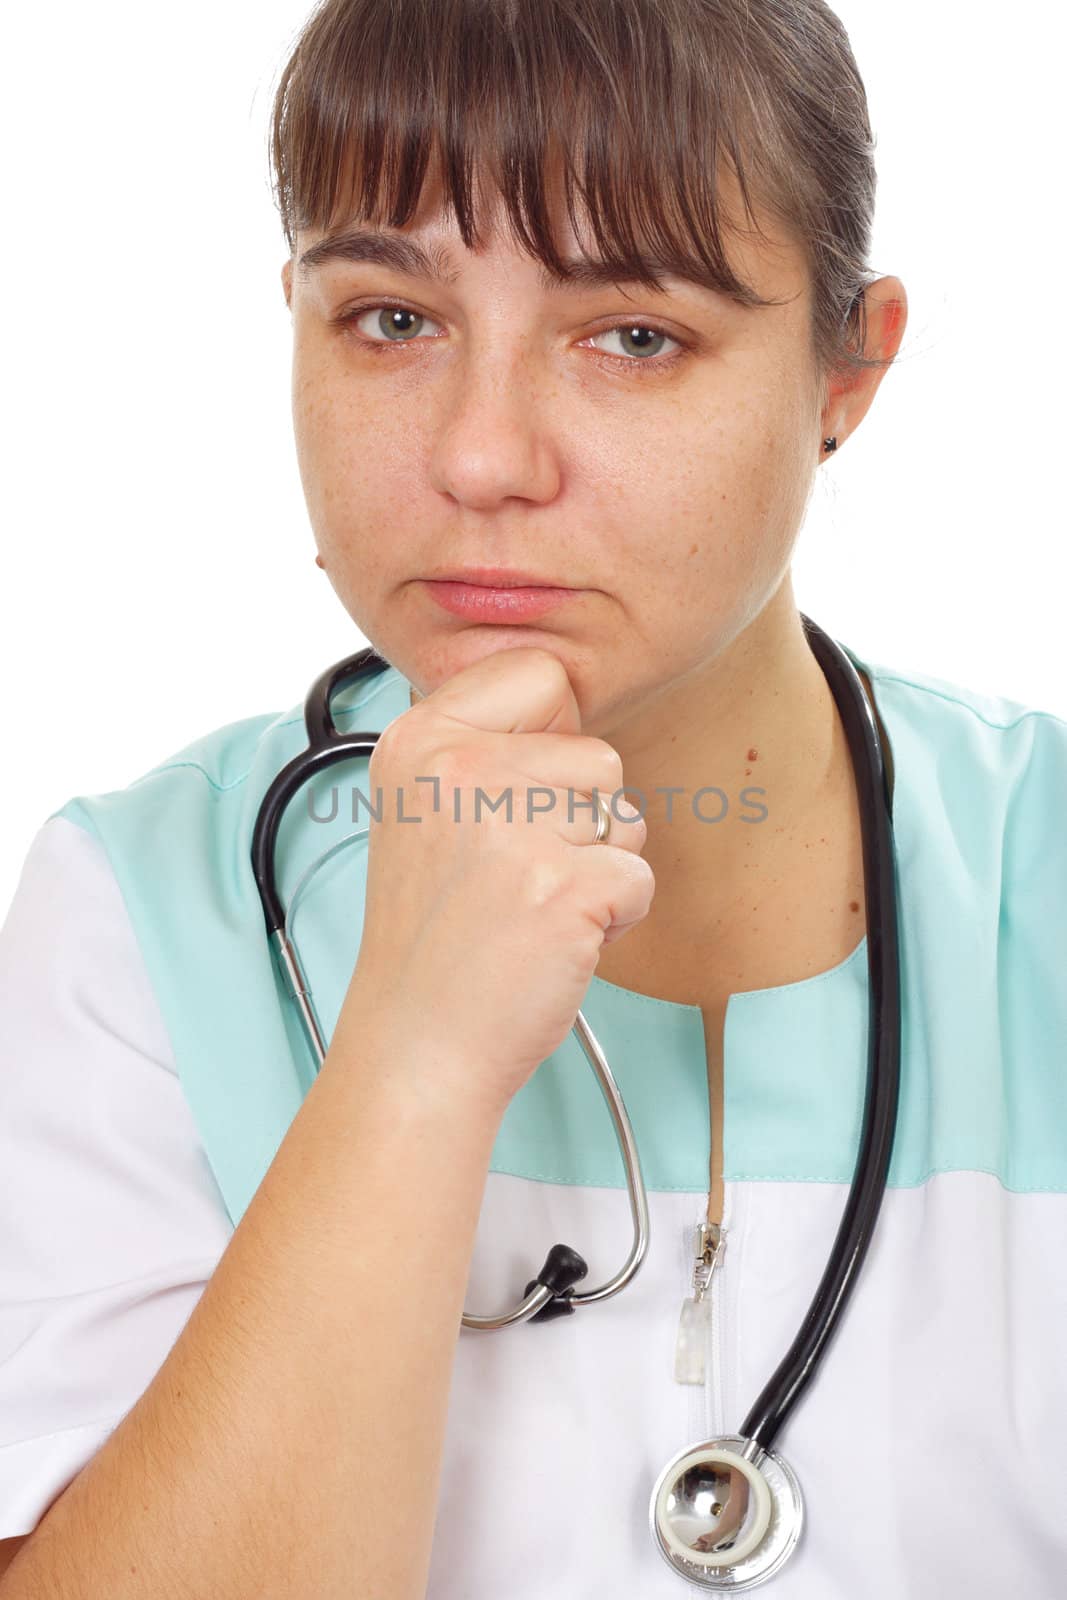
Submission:
MULTIPOLYGON (((1067 1136, 1067 1130, 1065 1130, 1067 1136)), ((166 1358, 230 1238, 109 862, 40 830, 0 931, 0 1538, 29 1533, 166 1358)), ((670 1600, 648 1498, 736 1432, 792 1341, 845 1187, 726 1186, 705 1386, 673 1379, 705 1197, 651 1192, 614 1299, 464 1331, 427 1600, 670 1600)), ((985 1173, 889 1190, 845 1323, 781 1451, 808 1522, 776 1600, 1059 1600, 1067 1574, 1067 1195, 985 1173), (990 1450, 990 1442, 995 1448, 990 1450), (841 1464, 848 1470, 841 1470, 841 1464)), ((549 1245, 622 1262, 624 1190, 491 1173, 467 1307, 549 1245)))

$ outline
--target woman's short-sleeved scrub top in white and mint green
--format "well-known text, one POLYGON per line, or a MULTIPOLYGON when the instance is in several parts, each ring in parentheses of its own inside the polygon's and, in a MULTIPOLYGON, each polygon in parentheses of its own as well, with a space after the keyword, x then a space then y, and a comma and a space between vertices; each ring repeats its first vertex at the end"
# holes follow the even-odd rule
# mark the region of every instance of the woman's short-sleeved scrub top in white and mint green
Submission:
MULTIPOLYGON (((806 1522, 765 1592, 1059 1600, 1067 720, 849 656, 894 773, 901 1107, 859 1283, 776 1443, 806 1522)), ((381 731, 410 683, 390 667, 336 706, 341 728, 381 731)), ((0 933, 0 1538, 35 1528, 144 1392, 314 1082, 248 859, 259 802, 304 742, 299 704, 230 723, 125 789, 70 800, 29 846, 0 933)), ((282 829, 286 902, 366 826, 349 806, 354 790, 370 797, 366 760, 310 789, 282 829)), ((365 867, 366 834, 299 898, 326 1037, 358 954, 365 867)), ((739 1430, 846 1200, 865 938, 829 971, 729 998, 726 1245, 704 1381, 678 1382, 707 1210, 702 1014, 593 976, 582 1016, 630 1112, 649 1251, 601 1304, 461 1330, 427 1600, 702 1592, 653 1544, 653 1485, 683 1446, 739 1430)), ((501 1123, 467 1309, 514 1306, 560 1240, 587 1259, 587 1286, 630 1246, 622 1162, 573 1034, 501 1123)))

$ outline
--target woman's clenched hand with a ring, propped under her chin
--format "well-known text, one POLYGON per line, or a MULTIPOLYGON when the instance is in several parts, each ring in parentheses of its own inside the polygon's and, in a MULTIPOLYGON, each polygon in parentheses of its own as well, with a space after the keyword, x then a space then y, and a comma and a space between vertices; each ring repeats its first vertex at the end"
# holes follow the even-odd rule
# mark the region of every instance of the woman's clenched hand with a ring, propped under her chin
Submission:
POLYGON ((502 1115, 573 1029, 601 946, 651 906, 645 822, 611 800, 622 762, 581 733, 560 659, 522 646, 395 717, 368 776, 382 819, 370 824, 363 934, 338 1030, 373 1026, 403 1042, 395 1059, 422 1061, 422 1074, 437 1062, 458 1093, 502 1115), (552 790, 531 797, 550 810, 528 819, 528 789, 552 790), (597 846, 593 789, 613 810, 611 842, 597 846))

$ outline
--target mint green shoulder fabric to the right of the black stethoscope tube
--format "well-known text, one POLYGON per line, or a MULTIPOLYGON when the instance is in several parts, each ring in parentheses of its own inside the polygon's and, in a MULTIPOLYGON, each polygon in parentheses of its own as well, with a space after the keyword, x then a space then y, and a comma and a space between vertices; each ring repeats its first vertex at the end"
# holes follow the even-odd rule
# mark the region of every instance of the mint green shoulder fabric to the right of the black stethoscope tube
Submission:
POLYGON ((982 1171, 1011 1190, 1062 1194, 1067 720, 933 674, 859 664, 896 768, 897 1171, 982 1171))

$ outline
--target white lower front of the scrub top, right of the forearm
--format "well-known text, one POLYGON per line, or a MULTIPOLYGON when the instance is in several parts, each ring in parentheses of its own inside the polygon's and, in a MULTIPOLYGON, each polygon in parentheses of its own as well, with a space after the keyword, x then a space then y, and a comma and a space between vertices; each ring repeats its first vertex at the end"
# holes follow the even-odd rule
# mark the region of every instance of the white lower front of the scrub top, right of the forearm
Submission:
MULTIPOLYGON (((704 1387, 673 1381, 701 1195, 649 1194, 651 1250, 616 1299, 461 1338, 430 1600, 705 1594, 651 1546, 653 1485, 683 1446, 741 1429, 800 1328, 846 1187, 726 1192, 704 1387)), ((557 1240, 603 1282, 627 1229, 621 1190, 490 1174, 467 1306, 512 1304, 557 1240)), ((1065 1230, 1067 1197, 1009 1194, 985 1173, 886 1194, 848 1314, 779 1440, 806 1526, 768 1597, 1061 1600, 1065 1230)))

